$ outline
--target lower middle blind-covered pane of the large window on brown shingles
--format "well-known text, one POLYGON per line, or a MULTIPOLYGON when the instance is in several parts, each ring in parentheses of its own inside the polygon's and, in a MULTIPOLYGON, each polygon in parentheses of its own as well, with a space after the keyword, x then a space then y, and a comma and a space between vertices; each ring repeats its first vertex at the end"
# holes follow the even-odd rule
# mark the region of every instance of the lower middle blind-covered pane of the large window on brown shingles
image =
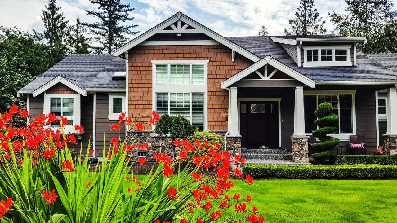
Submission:
POLYGON ((170 115, 175 114, 190 120, 190 93, 170 93, 170 115))

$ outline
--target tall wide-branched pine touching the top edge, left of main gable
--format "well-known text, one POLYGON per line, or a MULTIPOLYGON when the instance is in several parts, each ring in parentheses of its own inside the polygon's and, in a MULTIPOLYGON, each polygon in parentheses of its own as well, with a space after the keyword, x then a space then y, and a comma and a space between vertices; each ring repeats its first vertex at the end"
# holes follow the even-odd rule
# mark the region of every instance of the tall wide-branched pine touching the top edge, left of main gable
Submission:
POLYGON ((127 38, 125 35, 137 35, 139 32, 132 32, 131 29, 138 25, 120 25, 120 21, 131 21, 134 17, 128 17, 128 13, 135 8, 130 8, 129 4, 122 4, 121 0, 90 0, 93 4, 98 4, 98 11, 86 10, 87 15, 92 15, 99 19, 96 23, 83 23, 90 28, 90 32, 96 35, 95 39, 100 46, 95 47, 96 52, 106 50, 112 54, 113 50, 122 46, 127 38))

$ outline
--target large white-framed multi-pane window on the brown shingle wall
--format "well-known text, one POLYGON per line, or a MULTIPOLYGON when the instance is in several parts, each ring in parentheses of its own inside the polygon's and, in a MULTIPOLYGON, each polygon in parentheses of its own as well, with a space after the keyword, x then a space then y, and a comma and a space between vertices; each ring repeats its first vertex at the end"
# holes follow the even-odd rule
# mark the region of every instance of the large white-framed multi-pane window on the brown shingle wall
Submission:
POLYGON ((181 114, 207 129, 208 60, 161 60, 153 64, 153 110, 181 114))

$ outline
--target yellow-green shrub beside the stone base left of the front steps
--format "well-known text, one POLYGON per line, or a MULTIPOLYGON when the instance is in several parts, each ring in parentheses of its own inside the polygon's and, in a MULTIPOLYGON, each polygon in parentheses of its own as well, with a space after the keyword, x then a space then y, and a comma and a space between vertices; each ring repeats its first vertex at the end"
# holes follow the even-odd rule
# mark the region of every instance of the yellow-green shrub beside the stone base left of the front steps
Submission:
MULTIPOLYGON (((195 133, 192 136, 187 137, 187 140, 191 143, 194 142, 195 139, 200 140, 200 144, 204 145, 204 141, 209 142, 210 147, 214 148, 215 150, 217 150, 214 146, 214 144, 216 142, 219 142, 219 144, 221 145, 221 147, 217 150, 224 150, 225 149, 225 141, 223 140, 222 136, 217 135, 215 133, 211 133, 208 130, 204 130, 204 131, 199 131, 198 128, 195 129, 195 133)), ((202 155, 202 154, 206 154, 208 152, 209 149, 207 148, 203 148, 202 150, 200 150, 200 154, 198 155, 202 155)), ((199 152, 199 151, 197 151, 199 152)))

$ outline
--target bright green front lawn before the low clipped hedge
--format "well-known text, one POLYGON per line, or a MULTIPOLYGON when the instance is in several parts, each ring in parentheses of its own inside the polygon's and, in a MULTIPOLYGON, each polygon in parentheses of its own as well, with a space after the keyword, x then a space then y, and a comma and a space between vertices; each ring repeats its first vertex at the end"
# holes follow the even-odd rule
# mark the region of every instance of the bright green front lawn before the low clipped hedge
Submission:
POLYGON ((266 223, 397 222, 397 180, 233 180, 266 223))

